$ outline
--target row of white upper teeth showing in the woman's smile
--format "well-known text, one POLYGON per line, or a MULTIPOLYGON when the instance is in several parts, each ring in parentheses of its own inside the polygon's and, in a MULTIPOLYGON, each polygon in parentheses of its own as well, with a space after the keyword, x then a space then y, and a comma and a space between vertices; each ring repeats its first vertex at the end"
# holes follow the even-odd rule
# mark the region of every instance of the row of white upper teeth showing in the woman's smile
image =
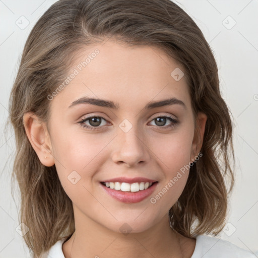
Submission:
POLYGON ((152 183, 149 182, 140 182, 140 183, 125 183, 125 182, 105 182, 106 187, 115 190, 121 191, 131 191, 137 192, 140 190, 148 189, 152 183))

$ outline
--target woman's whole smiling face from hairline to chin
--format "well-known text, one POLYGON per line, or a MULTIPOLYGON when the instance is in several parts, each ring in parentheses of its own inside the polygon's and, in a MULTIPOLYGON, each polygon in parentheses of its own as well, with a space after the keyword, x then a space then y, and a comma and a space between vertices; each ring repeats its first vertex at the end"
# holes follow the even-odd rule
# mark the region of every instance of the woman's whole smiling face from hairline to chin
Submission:
MULTIPOLYGON (((49 100, 48 132, 78 220, 117 232, 124 223, 141 232, 167 220, 185 186, 186 165, 200 150, 182 71, 156 47, 108 40, 80 51, 69 74, 75 76, 49 100), (165 99, 169 105, 150 106, 165 99), (111 189, 115 181, 120 184, 111 189), (116 190, 119 185, 123 190, 116 190)), ((198 119, 204 128, 205 115, 198 119)))

